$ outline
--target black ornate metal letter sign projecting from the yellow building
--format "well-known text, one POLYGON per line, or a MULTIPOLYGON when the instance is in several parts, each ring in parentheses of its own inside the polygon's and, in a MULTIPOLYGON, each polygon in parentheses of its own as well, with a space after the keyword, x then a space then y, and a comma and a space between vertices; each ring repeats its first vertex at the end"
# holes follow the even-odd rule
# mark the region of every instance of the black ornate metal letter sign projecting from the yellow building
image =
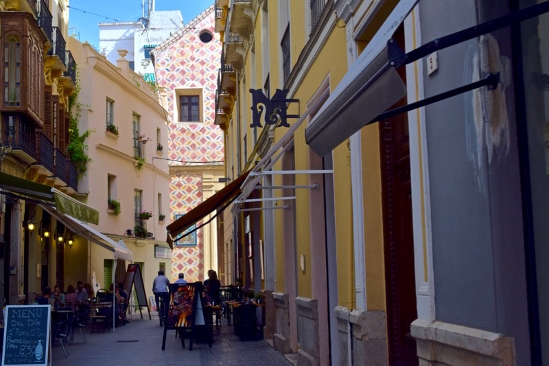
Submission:
POLYGON ((250 89, 252 93, 252 124, 250 127, 262 127, 261 120, 265 124, 276 124, 280 118, 280 126, 290 127, 287 118, 299 118, 299 115, 287 115, 288 103, 299 103, 299 99, 286 99, 288 89, 277 89, 271 100, 265 96, 261 89, 250 89))

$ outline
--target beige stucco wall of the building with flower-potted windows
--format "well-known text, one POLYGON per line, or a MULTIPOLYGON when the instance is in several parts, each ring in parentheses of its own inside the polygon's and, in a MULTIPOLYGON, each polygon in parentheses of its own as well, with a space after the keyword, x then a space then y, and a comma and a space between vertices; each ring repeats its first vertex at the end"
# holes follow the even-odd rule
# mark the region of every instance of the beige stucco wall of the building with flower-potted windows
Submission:
MULTIPOLYGON (((124 240, 126 247, 133 253, 133 262, 143 262, 143 282, 145 293, 150 293, 152 279, 156 276, 161 263, 165 263, 166 275, 170 276, 171 260, 154 257, 154 245, 166 246, 165 225, 159 222, 160 213, 170 217, 170 175, 167 161, 161 158, 162 152, 156 151, 156 144, 167 146, 167 127, 165 111, 156 97, 154 89, 146 84, 137 73, 129 69, 127 60, 121 59, 118 65, 112 65, 87 43, 82 45, 69 37, 69 47, 78 65, 78 79, 81 86, 79 102, 80 133, 93 130, 86 140, 89 156, 93 161, 88 164, 88 172, 79 181, 78 190, 87 194, 88 205, 100 211, 100 222, 95 229, 118 242, 124 240), (114 101, 114 124, 119 135, 106 133, 106 98, 114 101), (141 170, 135 166, 132 135, 132 115, 139 115, 140 133, 150 138, 143 144, 145 165, 141 170), (159 131, 159 134, 157 133, 159 131), (108 176, 115 176, 110 187, 110 197, 121 203, 121 213, 115 215, 107 210, 108 176), (152 211, 152 218, 146 220, 147 230, 153 238, 148 240, 126 236, 126 230, 135 226, 135 190, 142 191, 141 209, 152 211), (159 207, 161 194, 161 209, 159 207)), ((95 225, 91 225, 95 226, 95 225)), ((77 245, 84 243, 77 238, 77 245)), ((86 281, 91 282, 95 271, 97 282, 103 284, 104 260, 113 259, 113 253, 95 243, 87 244, 86 281)), ((82 255, 78 255, 82 260, 82 255)), ((126 263, 127 264, 127 263, 126 263)), ((69 264, 69 266, 73 263, 69 264)))

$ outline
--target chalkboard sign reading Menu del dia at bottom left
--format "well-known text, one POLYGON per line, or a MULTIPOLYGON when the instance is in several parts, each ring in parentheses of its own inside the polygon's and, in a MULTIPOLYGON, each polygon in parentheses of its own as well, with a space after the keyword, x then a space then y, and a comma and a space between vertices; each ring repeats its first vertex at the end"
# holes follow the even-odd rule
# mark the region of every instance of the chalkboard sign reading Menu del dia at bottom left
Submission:
POLYGON ((49 305, 5 307, 2 365, 47 365, 49 305))

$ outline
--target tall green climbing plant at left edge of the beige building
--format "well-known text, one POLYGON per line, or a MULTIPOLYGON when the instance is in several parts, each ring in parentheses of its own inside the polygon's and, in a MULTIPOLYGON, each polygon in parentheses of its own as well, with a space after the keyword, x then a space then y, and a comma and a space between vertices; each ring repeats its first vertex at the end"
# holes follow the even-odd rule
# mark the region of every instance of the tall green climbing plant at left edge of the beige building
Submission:
POLYGON ((88 163, 92 161, 88 155, 88 145, 86 139, 95 130, 86 130, 80 135, 78 129, 78 120, 80 119, 80 111, 82 110, 82 104, 78 102, 78 93, 80 92, 80 83, 76 82, 76 87, 73 93, 69 96, 69 138, 70 143, 67 146, 67 155, 69 159, 76 165, 78 170, 78 179, 82 178, 88 170, 88 163))

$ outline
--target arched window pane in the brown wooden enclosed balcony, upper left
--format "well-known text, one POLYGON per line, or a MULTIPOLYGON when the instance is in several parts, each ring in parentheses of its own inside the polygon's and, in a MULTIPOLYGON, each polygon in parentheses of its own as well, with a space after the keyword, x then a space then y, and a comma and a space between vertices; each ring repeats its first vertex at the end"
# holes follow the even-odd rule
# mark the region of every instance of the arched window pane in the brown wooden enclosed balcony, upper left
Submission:
POLYGON ((21 104, 21 41, 9 36, 4 44, 4 102, 6 106, 21 104))

